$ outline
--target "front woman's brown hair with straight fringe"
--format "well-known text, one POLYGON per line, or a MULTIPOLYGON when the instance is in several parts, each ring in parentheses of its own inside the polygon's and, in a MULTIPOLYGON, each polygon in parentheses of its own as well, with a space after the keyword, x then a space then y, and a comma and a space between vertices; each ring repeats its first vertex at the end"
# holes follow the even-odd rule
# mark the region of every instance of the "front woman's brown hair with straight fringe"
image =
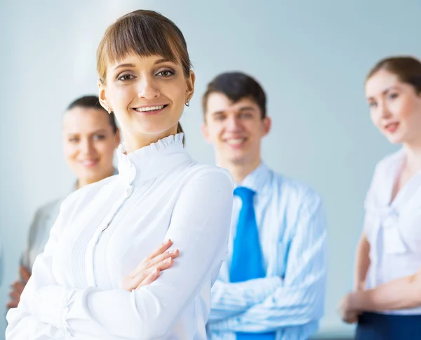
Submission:
MULTIPOLYGON (((186 77, 192 69, 182 32, 174 22, 155 11, 128 13, 107 28, 97 50, 97 70, 101 83, 106 83, 109 64, 132 53, 140 57, 161 55, 172 62, 180 62, 186 77)), ((180 123, 177 125, 179 132, 183 132, 180 123)))

